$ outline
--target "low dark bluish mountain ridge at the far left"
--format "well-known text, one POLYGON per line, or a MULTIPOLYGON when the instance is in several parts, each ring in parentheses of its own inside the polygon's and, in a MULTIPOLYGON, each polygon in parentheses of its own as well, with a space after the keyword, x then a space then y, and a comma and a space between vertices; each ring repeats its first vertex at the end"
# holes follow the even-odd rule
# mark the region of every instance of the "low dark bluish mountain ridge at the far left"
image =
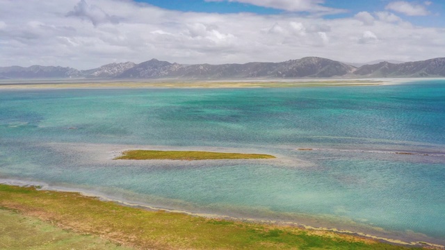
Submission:
POLYGON ((31 67, 0 67, 1 78, 74 78, 81 72, 71 67, 39 66, 31 67))

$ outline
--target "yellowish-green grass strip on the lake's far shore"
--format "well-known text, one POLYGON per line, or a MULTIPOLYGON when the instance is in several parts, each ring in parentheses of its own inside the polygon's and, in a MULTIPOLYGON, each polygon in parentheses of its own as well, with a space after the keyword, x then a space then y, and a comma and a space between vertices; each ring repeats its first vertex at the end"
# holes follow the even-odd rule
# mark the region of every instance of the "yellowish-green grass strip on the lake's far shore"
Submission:
POLYGON ((298 88, 383 85, 376 80, 309 80, 309 81, 13 81, 0 82, 0 89, 30 88, 298 88), (26 83, 26 84, 23 84, 26 83))

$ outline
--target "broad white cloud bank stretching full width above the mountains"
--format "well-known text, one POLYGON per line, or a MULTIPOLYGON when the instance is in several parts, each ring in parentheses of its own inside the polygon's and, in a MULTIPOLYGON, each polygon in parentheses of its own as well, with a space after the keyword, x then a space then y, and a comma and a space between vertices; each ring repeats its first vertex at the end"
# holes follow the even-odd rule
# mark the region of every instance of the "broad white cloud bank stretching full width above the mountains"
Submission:
MULTIPOLYGON (((86 3, 91 7, 93 1, 86 3)), ((104 14, 91 15, 102 17, 93 26, 90 17, 66 16, 78 4, 79 0, 0 0, 0 67, 88 69, 151 58, 213 64, 305 56, 408 61, 445 54, 445 28, 416 27, 390 12, 372 13, 373 25, 366 27, 357 17, 179 12, 127 0, 95 0, 104 14), (120 22, 107 19, 113 16, 120 22)))

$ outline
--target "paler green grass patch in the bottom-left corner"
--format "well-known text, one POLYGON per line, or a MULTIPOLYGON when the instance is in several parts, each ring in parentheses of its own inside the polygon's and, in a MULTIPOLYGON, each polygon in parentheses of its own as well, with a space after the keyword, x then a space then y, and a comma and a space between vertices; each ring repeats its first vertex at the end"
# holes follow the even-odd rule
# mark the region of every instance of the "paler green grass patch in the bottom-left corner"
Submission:
POLYGON ((40 219, 0 209, 0 249, 125 250, 109 240, 63 230, 40 219))

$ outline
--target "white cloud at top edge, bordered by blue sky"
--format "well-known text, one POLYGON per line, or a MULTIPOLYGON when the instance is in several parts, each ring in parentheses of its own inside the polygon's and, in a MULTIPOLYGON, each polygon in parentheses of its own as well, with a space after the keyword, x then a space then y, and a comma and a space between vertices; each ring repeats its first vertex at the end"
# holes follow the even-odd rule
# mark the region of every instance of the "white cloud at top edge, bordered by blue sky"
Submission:
POLYGON ((248 3, 254 6, 274 8, 278 10, 287 10, 292 12, 325 12, 333 14, 344 12, 336 8, 323 6, 324 0, 206 0, 206 1, 229 1, 238 3, 248 3))

